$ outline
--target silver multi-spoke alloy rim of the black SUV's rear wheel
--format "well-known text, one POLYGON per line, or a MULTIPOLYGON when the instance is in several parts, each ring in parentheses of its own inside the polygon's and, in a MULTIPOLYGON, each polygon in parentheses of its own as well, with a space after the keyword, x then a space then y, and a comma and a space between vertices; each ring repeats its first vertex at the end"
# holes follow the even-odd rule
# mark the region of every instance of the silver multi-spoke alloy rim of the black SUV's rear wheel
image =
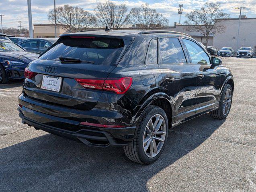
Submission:
POLYGON ((164 145, 166 123, 160 114, 154 115, 147 122, 143 136, 143 148, 147 157, 155 157, 164 145))

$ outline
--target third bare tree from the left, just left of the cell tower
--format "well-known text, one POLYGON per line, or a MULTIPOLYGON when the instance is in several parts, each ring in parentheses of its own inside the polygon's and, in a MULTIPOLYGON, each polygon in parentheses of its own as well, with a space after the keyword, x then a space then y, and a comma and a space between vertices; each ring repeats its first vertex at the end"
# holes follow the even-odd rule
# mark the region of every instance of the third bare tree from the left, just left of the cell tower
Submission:
POLYGON ((148 3, 132 8, 129 21, 131 24, 136 24, 136 27, 141 30, 153 30, 169 24, 168 19, 156 12, 155 9, 149 8, 148 3))

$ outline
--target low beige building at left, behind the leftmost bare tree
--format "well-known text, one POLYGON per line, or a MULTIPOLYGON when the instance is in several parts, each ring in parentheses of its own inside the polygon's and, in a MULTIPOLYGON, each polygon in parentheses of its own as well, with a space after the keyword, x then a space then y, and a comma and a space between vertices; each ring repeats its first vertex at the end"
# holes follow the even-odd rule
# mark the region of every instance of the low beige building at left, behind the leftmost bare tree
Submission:
MULTIPOLYGON (((60 25, 56 27, 57 37, 66 33, 66 30, 61 28, 60 25)), ((55 26, 54 24, 40 24, 34 25, 34 38, 50 38, 55 37, 55 26)))

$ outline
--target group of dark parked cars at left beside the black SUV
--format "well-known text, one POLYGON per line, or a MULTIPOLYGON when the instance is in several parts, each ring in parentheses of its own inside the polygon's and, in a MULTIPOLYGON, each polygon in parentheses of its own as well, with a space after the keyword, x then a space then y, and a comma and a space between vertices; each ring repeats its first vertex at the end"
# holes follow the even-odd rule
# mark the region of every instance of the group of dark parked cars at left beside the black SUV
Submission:
POLYGON ((24 78, 27 65, 58 38, 24 38, 0 34, 0 84, 24 78))

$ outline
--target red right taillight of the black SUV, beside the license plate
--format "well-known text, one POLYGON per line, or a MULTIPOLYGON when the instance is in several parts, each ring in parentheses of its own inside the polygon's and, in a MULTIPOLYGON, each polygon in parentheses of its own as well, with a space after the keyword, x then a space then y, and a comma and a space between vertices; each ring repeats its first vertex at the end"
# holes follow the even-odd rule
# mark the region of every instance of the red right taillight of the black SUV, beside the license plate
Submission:
POLYGON ((106 78, 105 80, 100 79, 78 79, 75 80, 80 83, 84 88, 97 89, 104 91, 112 91, 116 94, 125 94, 131 87, 133 78, 122 77, 122 78, 106 78))

